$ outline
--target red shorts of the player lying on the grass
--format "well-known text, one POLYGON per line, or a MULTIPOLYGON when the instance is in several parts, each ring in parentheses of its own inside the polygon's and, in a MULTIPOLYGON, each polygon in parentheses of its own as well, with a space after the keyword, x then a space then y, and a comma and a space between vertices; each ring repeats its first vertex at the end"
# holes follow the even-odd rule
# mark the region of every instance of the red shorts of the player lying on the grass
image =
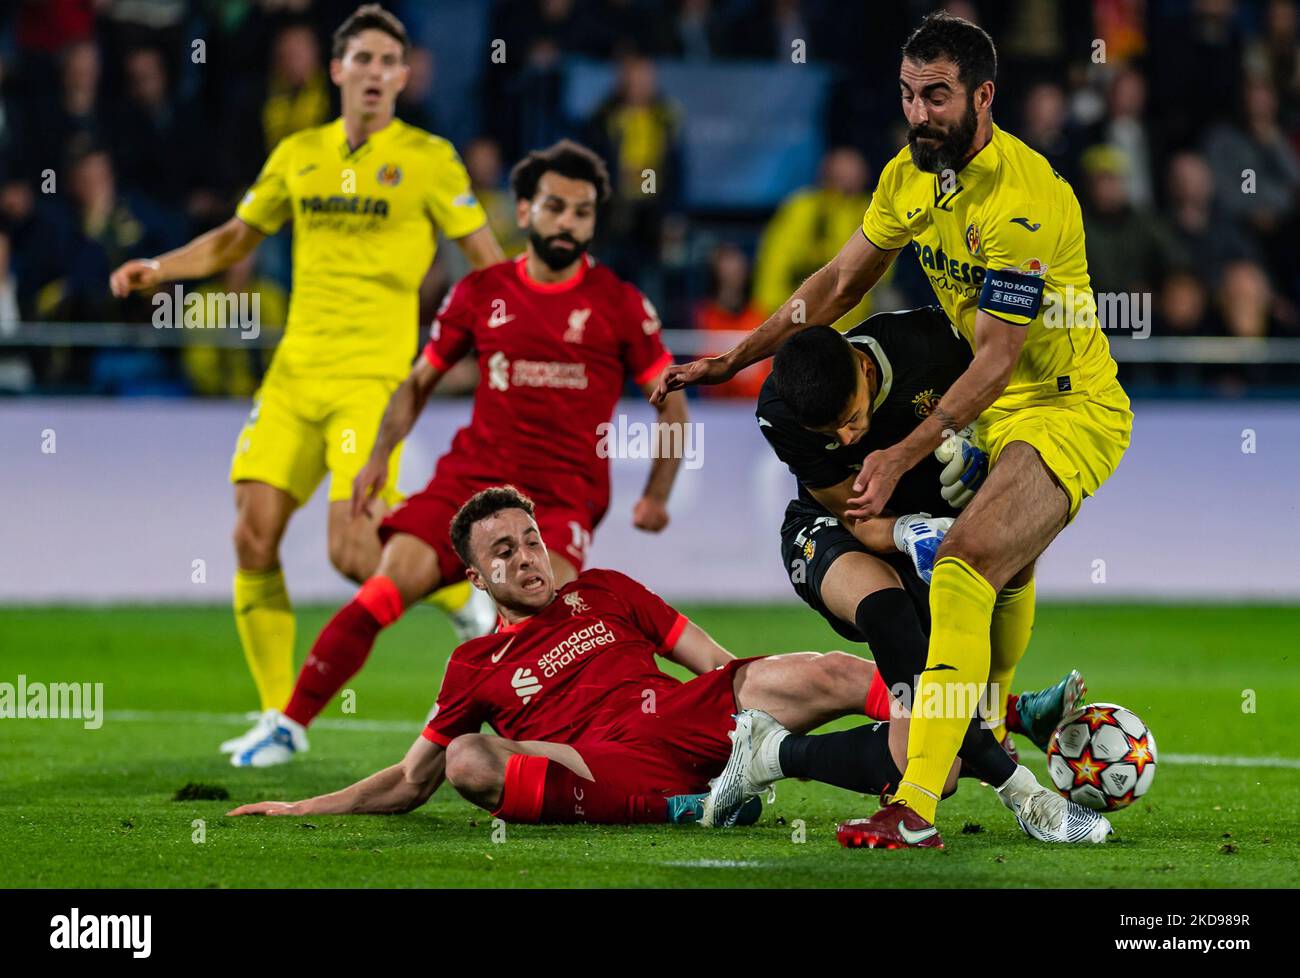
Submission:
POLYGON ((696 795, 731 757, 737 713, 736 659, 670 689, 656 689, 654 711, 637 709, 573 743, 592 776, 628 795, 696 795))

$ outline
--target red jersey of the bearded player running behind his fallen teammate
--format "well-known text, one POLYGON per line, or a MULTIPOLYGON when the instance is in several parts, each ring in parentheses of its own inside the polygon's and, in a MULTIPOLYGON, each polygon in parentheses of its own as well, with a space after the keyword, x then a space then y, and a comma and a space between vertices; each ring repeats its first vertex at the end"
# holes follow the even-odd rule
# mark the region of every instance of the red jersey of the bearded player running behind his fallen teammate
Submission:
POLYGON ((520 255, 456 284, 424 358, 446 371, 471 350, 473 416, 434 479, 510 481, 543 499, 589 503, 594 525, 610 499, 597 428, 629 378, 646 384, 672 363, 654 306, 590 258, 550 285, 529 278, 520 255))

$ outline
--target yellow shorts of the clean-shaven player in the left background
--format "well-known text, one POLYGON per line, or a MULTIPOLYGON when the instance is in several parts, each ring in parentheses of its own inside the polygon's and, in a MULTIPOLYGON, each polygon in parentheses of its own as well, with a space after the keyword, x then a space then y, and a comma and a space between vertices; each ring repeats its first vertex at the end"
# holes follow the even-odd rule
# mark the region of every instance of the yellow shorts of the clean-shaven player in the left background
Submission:
MULTIPOLYGON (((266 482, 283 489, 298 505, 307 502, 325 473, 329 499, 350 499, 352 480, 370 456, 380 420, 398 381, 377 377, 309 380, 268 371, 252 397, 252 411, 230 460, 231 482, 266 482)), ((402 446, 389 456, 384 499, 400 501, 398 463, 402 446)))

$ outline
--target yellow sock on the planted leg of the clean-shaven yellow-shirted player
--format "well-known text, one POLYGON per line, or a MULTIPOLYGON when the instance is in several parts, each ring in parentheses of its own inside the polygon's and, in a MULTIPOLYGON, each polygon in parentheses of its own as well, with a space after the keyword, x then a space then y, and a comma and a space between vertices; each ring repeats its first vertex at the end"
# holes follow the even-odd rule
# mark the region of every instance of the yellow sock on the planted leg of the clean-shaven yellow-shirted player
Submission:
POLYGON ((294 691, 294 609, 285 572, 235 571, 235 629, 263 710, 282 710, 294 691))

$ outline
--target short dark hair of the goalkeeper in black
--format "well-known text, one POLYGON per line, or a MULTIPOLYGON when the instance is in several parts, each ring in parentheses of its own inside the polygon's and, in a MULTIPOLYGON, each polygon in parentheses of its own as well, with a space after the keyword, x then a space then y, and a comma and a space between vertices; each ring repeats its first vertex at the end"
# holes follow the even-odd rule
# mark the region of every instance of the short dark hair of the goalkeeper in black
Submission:
POLYGON ((805 428, 836 424, 858 389, 853 346, 835 326, 807 326, 772 358, 772 381, 805 428))

